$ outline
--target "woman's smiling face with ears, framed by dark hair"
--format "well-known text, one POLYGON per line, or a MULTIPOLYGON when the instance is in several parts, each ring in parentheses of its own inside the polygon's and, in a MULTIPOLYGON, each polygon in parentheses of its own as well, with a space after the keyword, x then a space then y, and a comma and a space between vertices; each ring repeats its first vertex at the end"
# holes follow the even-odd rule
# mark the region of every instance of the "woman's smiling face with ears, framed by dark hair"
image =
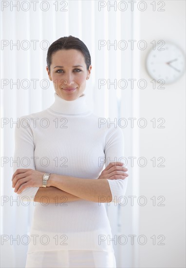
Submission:
POLYGON ((83 54, 76 49, 58 50, 52 55, 50 72, 46 67, 50 80, 58 96, 65 100, 74 100, 82 95, 89 79, 89 70, 83 54))

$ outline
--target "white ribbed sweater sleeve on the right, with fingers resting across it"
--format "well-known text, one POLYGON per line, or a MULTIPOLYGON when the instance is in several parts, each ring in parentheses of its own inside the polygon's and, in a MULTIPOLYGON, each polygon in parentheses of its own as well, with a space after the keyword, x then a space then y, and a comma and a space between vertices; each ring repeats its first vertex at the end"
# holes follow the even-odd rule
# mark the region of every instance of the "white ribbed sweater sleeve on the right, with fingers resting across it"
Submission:
MULTIPOLYGON (((120 161, 124 163, 124 136, 119 127, 112 128, 106 137, 105 157, 107 167, 111 162, 120 161)), ((126 166, 125 166, 126 167, 126 166)), ((107 179, 112 192, 112 202, 119 204, 127 190, 128 178, 111 180, 107 179)))

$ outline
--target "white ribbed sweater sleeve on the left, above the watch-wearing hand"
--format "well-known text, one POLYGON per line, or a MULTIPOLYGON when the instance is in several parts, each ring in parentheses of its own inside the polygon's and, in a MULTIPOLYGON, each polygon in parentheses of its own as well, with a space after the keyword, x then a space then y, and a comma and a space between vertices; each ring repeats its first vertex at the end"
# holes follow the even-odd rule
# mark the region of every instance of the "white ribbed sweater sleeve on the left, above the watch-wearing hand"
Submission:
MULTIPOLYGON (((26 121, 29 122, 29 118, 26 118, 25 122, 21 116, 19 123, 15 128, 15 150, 14 150, 14 162, 13 172, 17 169, 33 169, 35 170, 34 162, 34 138, 30 126, 26 126, 26 121), (25 125, 24 125, 25 123, 25 125)), ((34 201, 34 197, 39 187, 28 187, 19 193, 19 197, 26 196, 30 201, 34 201)))

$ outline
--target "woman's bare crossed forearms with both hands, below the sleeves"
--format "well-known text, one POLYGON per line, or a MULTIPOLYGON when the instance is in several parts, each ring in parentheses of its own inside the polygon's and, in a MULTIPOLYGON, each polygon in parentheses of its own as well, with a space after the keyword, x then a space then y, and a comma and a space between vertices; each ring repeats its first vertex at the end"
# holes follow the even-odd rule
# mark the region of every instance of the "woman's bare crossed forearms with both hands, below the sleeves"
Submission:
POLYGON ((122 165, 123 163, 120 162, 110 163, 101 172, 98 179, 51 174, 47 188, 42 188, 44 172, 18 169, 12 176, 12 187, 18 194, 27 187, 39 187, 34 198, 35 202, 40 202, 43 196, 47 196, 50 203, 56 203, 56 198, 57 203, 63 203, 63 197, 68 202, 85 199, 92 202, 108 203, 112 201, 112 192, 107 179, 125 179, 128 176, 127 169, 122 165))

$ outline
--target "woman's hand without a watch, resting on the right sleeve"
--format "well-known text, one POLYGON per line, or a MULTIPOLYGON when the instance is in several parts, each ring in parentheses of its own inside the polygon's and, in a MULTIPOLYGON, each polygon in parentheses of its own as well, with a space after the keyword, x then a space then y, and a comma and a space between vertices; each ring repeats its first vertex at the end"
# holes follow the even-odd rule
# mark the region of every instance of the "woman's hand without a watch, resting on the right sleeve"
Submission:
POLYGON ((123 163, 121 162, 111 162, 100 174, 98 179, 125 179, 129 175, 126 173, 127 168, 122 167, 123 163))

